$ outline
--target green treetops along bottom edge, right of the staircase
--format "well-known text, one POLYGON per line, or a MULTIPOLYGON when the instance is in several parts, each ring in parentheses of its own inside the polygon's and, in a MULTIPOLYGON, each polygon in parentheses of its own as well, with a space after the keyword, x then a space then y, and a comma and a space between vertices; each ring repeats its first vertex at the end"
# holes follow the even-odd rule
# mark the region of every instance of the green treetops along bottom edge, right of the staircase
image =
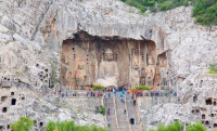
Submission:
MULTIPOLYGON (((165 126, 159 125, 156 130, 151 129, 150 131, 183 131, 183 126, 179 121, 175 121, 171 125, 165 126)), ((186 131, 206 131, 206 128, 200 122, 189 123, 186 131)))

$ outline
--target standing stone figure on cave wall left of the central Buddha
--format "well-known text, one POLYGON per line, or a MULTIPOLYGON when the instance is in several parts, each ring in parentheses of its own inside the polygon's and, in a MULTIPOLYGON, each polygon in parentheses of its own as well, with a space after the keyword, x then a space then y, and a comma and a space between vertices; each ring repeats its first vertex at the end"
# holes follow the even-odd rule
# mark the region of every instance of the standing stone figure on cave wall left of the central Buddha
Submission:
POLYGON ((85 64, 79 63, 78 64, 78 69, 76 70, 75 79, 76 79, 76 86, 82 87, 86 84, 86 69, 85 69, 85 64))

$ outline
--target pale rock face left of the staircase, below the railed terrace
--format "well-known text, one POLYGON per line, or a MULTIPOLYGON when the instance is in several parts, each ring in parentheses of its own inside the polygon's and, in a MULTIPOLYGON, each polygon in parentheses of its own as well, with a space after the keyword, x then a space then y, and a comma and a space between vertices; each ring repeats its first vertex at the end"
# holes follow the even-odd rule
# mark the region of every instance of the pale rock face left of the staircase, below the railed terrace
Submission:
POLYGON ((104 116, 95 113, 95 107, 102 105, 102 97, 61 99, 48 93, 43 99, 37 90, 26 87, 3 86, 0 88, 0 128, 10 130, 10 126, 21 116, 35 121, 34 130, 44 130, 50 121, 74 120, 76 125, 95 123, 104 127, 104 116))

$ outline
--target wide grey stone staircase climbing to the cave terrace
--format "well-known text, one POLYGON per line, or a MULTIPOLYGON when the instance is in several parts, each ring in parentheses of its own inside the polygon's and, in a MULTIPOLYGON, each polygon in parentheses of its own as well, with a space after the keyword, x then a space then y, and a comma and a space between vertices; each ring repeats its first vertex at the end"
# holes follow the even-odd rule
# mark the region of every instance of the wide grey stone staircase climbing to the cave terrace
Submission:
POLYGON ((111 122, 108 127, 110 131, 141 131, 137 108, 133 106, 133 100, 130 94, 125 93, 124 100, 126 100, 126 104, 120 102, 120 93, 116 93, 116 97, 113 97, 113 93, 111 92, 111 97, 108 97, 108 93, 105 93, 105 107, 106 112, 110 108, 110 116, 106 114, 106 121, 111 122), (125 97, 126 96, 126 97, 125 97), (114 105, 115 99, 115 105, 114 105), (116 109, 116 115, 115 115, 116 109), (124 110, 127 109, 127 114, 125 115, 124 110), (116 121, 117 119, 117 121, 116 121), (128 125, 129 119, 135 120, 135 125, 128 125), (118 126, 117 126, 118 125, 118 126))

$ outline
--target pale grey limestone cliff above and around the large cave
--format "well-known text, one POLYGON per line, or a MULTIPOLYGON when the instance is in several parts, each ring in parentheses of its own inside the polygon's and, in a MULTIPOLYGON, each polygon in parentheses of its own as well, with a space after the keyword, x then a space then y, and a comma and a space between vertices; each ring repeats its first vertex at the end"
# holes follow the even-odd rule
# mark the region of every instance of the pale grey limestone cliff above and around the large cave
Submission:
POLYGON ((4 80, 18 79, 40 89, 52 79, 56 86, 62 43, 84 30, 97 37, 152 40, 157 54, 167 56, 161 75, 170 87, 180 87, 183 97, 192 88, 217 87, 216 78, 203 76, 208 64, 217 62, 217 27, 194 24, 191 6, 139 15, 117 0, 1 0, 0 10, 4 80))

